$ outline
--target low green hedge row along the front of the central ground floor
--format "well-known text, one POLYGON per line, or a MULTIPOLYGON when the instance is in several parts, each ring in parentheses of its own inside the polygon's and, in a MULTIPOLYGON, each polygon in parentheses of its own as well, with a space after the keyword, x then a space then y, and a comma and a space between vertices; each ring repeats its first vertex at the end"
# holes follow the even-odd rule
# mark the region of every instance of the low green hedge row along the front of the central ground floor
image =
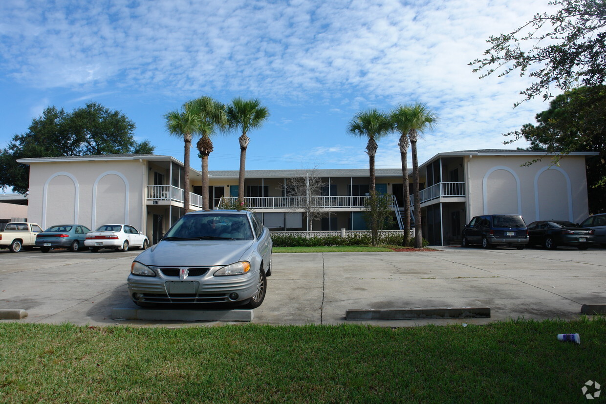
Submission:
MULTIPOLYGON (((273 247, 324 247, 324 246, 342 246, 342 245, 370 245, 370 233, 352 233, 345 237, 341 236, 292 236, 284 235, 278 232, 271 233, 273 247)), ((381 235, 380 242, 386 245, 402 245, 401 234, 384 233, 381 235)), ((408 247, 414 247, 415 239, 410 239, 408 247)), ((428 245, 427 240, 423 239, 423 247, 428 245)))

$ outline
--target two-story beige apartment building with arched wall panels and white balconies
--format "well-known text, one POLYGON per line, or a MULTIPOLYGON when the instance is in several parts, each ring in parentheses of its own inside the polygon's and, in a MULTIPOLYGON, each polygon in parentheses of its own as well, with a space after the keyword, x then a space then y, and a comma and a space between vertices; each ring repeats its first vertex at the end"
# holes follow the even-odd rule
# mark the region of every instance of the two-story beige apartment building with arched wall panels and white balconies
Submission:
MULTIPOLYGON (((433 244, 453 242, 470 217, 482 213, 520 213, 539 219, 578 221, 588 214, 585 157, 573 153, 559 167, 550 159, 529 167, 541 156, 518 150, 441 153, 420 166, 421 217, 425 238, 433 244)), ((28 219, 43 228, 79 223, 90 228, 128 223, 157 242, 184 214, 184 167, 170 156, 115 154, 21 159, 30 165, 28 219)), ((321 219, 313 230, 363 230, 368 170, 313 170, 321 194, 289 194, 289 180, 308 170, 248 170, 245 197, 272 231, 309 230, 301 199, 313 198, 321 219)), ((201 173, 190 168, 190 209, 202 208, 201 173)), ((210 171, 211 205, 221 207, 238 195, 238 171, 210 171)), ((379 193, 392 194, 393 226, 401 228, 402 170, 376 170, 379 193)))

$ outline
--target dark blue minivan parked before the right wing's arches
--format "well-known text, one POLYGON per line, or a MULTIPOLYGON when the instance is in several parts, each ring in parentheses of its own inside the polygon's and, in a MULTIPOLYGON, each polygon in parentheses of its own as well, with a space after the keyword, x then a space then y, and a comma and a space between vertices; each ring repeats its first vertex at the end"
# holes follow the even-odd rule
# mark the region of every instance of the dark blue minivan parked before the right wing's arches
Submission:
POLYGON ((482 248, 507 245, 523 250, 528 244, 528 228, 519 214, 476 216, 463 229, 461 245, 479 244, 482 248))

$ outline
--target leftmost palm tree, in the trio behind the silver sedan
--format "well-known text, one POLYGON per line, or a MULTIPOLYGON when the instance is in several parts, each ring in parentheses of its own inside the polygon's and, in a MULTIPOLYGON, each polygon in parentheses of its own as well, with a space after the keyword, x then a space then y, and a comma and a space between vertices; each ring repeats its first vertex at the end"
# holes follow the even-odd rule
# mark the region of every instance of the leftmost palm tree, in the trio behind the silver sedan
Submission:
POLYGON ((187 103, 183 105, 182 111, 170 111, 169 113, 164 115, 166 128, 168 133, 173 136, 181 137, 185 143, 185 153, 183 157, 183 165, 185 170, 185 183, 184 183, 184 192, 183 192, 183 210, 184 213, 187 213, 190 206, 190 195, 189 195, 189 187, 190 187, 190 179, 189 179, 189 169, 190 169, 190 148, 191 148, 191 140, 193 136, 198 133, 200 127, 200 116, 196 114, 194 111, 191 111, 190 108, 186 107, 187 103))

